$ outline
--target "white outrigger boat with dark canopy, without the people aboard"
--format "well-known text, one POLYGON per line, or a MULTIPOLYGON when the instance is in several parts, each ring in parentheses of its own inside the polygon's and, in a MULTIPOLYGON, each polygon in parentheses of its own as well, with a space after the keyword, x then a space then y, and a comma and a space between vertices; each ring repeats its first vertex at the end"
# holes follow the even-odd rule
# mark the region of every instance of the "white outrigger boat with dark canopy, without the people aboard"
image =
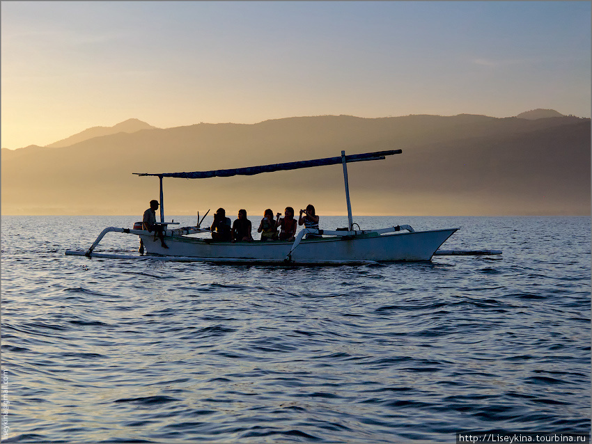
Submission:
MULTIPOLYGON (((161 246, 160 239, 154 233, 130 228, 105 228, 91 248, 87 251, 66 251, 66 255, 84 255, 86 257, 112 257, 131 259, 143 257, 139 255, 111 255, 96 253, 102 237, 108 232, 123 232, 139 236, 146 248, 148 257, 204 262, 238 262, 238 263, 269 263, 269 264, 364 264, 371 262, 396 261, 428 261, 437 252, 446 239, 451 237, 458 228, 442 230, 416 231, 409 225, 396 225, 378 230, 354 230, 352 209, 348 187, 347 164, 355 161, 382 160, 392 154, 400 154, 401 150, 368 152, 364 154, 327 157, 309 161, 289 162, 234 168, 217 171, 194 171, 191 173, 134 173, 139 176, 156 176, 160 182, 160 223, 164 225, 164 242, 169 248, 161 246), (192 227, 170 228, 172 222, 164 222, 164 196, 162 179, 178 177, 200 179, 207 177, 228 177, 232 175, 254 175, 272 171, 286 171, 312 166, 343 165, 345 182, 345 200, 348 206, 348 227, 336 230, 311 230, 305 228, 298 232, 294 241, 242 241, 223 242, 212 239, 192 237, 196 233, 210 233, 200 228, 201 221, 192 227), (313 233, 318 237, 305 239, 305 235, 313 233)), ((203 221, 203 219, 202 219, 203 221)), ((359 228, 359 226, 357 227, 359 228)), ((490 254, 501 252, 488 251, 490 254)), ((449 253, 453 254, 453 253, 449 253)), ((145 257, 145 256, 144 256, 145 257)))

